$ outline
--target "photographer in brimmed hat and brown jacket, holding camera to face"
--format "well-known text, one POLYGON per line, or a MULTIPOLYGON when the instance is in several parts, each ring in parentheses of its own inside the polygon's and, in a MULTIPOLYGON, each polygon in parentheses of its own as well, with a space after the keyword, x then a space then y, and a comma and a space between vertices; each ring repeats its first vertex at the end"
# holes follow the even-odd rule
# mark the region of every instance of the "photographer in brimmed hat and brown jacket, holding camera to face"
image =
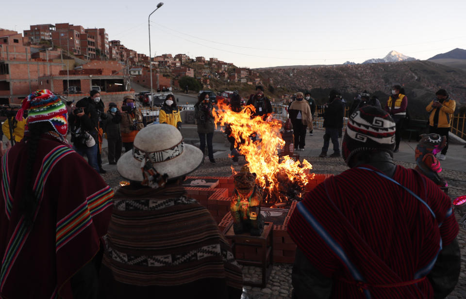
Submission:
POLYGON ((133 150, 134 137, 143 127, 141 111, 136 109, 133 94, 126 94, 123 97, 123 106, 121 106, 121 141, 125 147, 125 152, 133 150))

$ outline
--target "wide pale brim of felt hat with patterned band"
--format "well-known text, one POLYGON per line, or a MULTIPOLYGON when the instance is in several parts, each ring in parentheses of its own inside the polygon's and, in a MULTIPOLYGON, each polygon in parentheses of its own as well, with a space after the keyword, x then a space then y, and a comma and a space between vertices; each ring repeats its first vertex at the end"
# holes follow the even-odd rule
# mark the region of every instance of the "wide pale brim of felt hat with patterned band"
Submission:
MULTIPOLYGON (((158 173, 168 175, 168 178, 175 178, 194 171, 202 162, 203 153, 199 148, 184 144, 183 153, 173 159, 156 163, 155 169, 158 173)), ((143 175, 141 161, 133 157, 133 151, 123 154, 116 163, 118 173, 131 181, 142 182, 143 175)))

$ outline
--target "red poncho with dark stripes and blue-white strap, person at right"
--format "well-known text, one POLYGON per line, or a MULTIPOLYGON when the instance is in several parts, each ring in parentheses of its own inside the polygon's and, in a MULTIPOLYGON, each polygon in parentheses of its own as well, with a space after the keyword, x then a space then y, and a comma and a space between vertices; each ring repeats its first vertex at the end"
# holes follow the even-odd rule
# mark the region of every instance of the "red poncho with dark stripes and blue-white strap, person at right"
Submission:
POLYGON ((333 278, 332 298, 433 298, 425 277, 442 244, 458 233, 449 197, 397 166, 393 179, 423 203, 369 169, 318 185, 297 205, 288 232, 314 267, 333 278))

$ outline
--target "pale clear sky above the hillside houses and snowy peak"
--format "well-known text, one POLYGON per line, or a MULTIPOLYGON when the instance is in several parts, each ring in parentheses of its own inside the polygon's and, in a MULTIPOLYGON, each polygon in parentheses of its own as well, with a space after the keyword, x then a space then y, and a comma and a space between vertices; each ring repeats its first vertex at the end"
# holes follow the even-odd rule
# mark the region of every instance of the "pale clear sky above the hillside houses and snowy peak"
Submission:
MULTIPOLYGON (((237 66, 362 63, 396 50, 426 60, 466 49, 464 0, 163 0, 150 17, 152 57, 216 57, 237 66)), ((2 3, 0 28, 70 23, 149 55, 148 16, 158 1, 2 3), (76 6, 71 6, 71 3, 76 6)))

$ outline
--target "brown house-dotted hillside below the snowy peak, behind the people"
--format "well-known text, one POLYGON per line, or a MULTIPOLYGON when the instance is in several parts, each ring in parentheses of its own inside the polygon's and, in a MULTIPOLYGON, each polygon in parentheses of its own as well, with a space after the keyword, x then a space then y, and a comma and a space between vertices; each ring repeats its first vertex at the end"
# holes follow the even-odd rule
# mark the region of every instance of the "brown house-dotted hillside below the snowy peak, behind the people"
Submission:
POLYGON ((263 69, 264 82, 272 81, 288 90, 311 90, 320 103, 331 89, 338 89, 348 101, 367 90, 385 103, 393 84, 404 85, 415 117, 425 118, 424 108, 435 92, 445 88, 457 101, 465 104, 466 72, 430 61, 348 64, 318 68, 263 69))

